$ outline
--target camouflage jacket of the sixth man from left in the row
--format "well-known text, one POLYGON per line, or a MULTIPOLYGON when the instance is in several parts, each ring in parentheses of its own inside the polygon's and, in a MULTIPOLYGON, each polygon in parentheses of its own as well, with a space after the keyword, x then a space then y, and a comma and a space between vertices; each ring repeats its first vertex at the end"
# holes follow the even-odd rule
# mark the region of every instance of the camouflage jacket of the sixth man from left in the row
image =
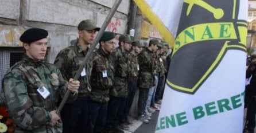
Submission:
POLYGON ((156 71, 156 54, 150 51, 148 48, 142 50, 138 54, 139 61, 139 77, 138 87, 151 88, 156 82, 154 80, 153 72, 156 71))

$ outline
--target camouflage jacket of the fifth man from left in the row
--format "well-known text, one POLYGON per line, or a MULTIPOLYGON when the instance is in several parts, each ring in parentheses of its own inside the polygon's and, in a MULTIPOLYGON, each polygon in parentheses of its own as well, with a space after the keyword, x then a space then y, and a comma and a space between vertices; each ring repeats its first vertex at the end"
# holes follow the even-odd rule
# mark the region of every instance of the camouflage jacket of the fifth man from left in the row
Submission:
POLYGON ((129 77, 137 77, 139 75, 138 56, 134 53, 128 54, 129 77))

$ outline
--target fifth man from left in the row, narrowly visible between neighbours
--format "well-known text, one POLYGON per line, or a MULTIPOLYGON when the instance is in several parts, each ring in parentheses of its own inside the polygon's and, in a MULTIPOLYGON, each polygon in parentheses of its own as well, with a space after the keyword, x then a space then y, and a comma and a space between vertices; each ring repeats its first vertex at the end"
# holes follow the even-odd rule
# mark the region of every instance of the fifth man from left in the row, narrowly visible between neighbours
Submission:
POLYGON ((142 42, 134 41, 132 44, 132 49, 128 54, 128 67, 129 67, 129 93, 125 103, 125 108, 123 110, 122 119, 120 120, 123 124, 132 124, 127 119, 131 104, 133 104, 134 95, 137 89, 137 80, 139 74, 139 62, 138 54, 142 51, 142 42))

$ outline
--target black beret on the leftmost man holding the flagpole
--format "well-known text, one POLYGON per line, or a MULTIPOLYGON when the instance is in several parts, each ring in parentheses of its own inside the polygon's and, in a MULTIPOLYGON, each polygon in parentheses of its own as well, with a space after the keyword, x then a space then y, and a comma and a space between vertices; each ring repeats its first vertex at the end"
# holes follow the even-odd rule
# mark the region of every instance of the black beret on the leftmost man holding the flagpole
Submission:
POLYGON ((48 32, 44 29, 40 28, 31 28, 26 30, 20 37, 20 41, 30 43, 37 40, 41 40, 42 38, 46 38, 48 36, 48 32))

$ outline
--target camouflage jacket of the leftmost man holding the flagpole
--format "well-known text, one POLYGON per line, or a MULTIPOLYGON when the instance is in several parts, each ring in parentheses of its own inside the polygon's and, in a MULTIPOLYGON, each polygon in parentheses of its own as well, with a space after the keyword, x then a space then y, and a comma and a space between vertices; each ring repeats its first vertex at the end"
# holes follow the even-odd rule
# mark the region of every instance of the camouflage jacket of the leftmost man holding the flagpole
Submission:
MULTIPOLYGON (((54 127, 50 112, 64 96, 67 81, 55 65, 32 60, 28 56, 11 67, 3 77, 3 91, 11 118, 17 124, 15 132, 62 132, 62 124, 54 127), (50 95, 44 99, 38 93, 45 87, 50 95)), ((69 96, 68 102, 77 95, 69 96)))

